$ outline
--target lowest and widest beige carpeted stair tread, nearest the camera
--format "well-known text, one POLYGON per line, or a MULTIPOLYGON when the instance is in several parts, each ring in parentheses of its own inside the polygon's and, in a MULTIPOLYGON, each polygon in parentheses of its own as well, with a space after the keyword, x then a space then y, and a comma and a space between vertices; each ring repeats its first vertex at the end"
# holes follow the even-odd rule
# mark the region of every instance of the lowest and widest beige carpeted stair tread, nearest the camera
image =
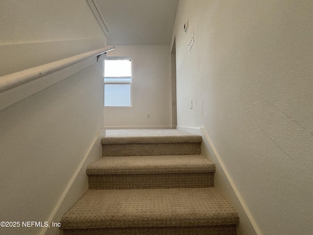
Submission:
POLYGON ((215 188, 93 189, 63 216, 63 229, 238 224, 215 188))

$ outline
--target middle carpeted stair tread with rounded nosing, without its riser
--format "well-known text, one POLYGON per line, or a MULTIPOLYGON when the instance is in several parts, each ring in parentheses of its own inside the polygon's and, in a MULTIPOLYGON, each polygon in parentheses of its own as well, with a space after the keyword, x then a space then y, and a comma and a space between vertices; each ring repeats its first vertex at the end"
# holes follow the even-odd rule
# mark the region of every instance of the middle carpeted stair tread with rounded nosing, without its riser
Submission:
POLYGON ((215 172, 202 155, 102 157, 87 167, 87 174, 165 174, 215 172))

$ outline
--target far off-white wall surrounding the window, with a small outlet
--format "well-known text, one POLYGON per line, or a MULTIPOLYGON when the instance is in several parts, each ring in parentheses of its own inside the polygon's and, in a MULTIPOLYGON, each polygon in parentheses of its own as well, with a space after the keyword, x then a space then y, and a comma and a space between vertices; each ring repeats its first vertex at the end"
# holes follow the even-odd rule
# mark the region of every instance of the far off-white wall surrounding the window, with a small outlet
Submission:
POLYGON ((115 46, 107 56, 132 57, 132 107, 105 107, 105 127, 171 127, 169 45, 115 46), (150 118, 147 118, 150 114, 150 118))

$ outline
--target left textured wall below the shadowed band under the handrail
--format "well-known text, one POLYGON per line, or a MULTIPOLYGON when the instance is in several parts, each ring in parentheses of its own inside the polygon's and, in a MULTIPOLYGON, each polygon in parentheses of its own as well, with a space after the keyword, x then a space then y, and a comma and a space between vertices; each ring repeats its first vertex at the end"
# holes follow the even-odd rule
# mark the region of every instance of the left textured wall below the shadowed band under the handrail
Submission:
POLYGON ((1 221, 47 221, 103 124, 102 70, 94 64, 0 111, 1 221))

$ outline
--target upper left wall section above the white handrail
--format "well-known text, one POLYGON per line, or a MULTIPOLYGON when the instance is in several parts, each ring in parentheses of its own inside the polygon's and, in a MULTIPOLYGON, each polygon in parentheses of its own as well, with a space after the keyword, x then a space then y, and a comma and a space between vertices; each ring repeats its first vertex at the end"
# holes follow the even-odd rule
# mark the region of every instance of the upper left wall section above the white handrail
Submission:
POLYGON ((0 76, 106 45, 86 0, 0 3, 0 76))

